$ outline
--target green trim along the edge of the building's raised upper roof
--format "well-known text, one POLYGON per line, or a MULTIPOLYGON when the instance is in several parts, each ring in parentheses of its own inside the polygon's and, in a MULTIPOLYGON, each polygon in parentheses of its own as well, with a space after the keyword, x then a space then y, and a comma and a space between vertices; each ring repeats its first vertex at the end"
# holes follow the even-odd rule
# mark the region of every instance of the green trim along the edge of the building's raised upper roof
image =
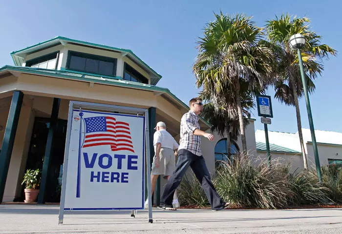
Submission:
POLYGON ((99 48, 102 48, 102 49, 116 50, 116 51, 120 51, 120 52, 123 52, 123 53, 128 53, 131 57, 133 57, 134 59, 138 60, 143 65, 143 67, 145 67, 146 69, 150 70, 150 72, 153 73, 157 77, 157 79, 153 81, 153 84, 158 83, 158 81, 162 78, 162 76, 160 74, 158 74, 156 71, 154 71, 149 65, 147 65, 143 60, 141 60, 138 56, 136 56, 133 53, 133 51, 131 51, 129 49, 121 49, 121 48, 116 48, 116 47, 107 46, 107 45, 100 45, 100 44, 95 44, 95 43, 86 42, 86 41, 82 41, 82 40, 75 40, 75 39, 64 38, 64 37, 61 37, 61 36, 58 36, 58 37, 55 37, 55 38, 52 38, 52 39, 49 39, 49 40, 45 40, 43 42, 40 42, 40 43, 32 45, 32 46, 28 46, 28 47, 26 47, 24 49, 21 49, 21 50, 17 50, 17 51, 11 52, 11 56, 12 56, 12 59, 14 61, 14 64, 15 65, 19 65, 19 64, 16 64, 16 62, 15 62, 15 59, 14 59, 15 55, 20 54, 21 52, 23 52, 25 50, 37 47, 39 45, 47 44, 47 43, 50 43, 50 42, 53 42, 53 41, 57 42, 57 41, 61 41, 61 40, 62 41, 66 41, 66 42, 71 42, 71 43, 83 44, 83 45, 88 45, 88 46, 93 46, 93 47, 99 47, 99 48))

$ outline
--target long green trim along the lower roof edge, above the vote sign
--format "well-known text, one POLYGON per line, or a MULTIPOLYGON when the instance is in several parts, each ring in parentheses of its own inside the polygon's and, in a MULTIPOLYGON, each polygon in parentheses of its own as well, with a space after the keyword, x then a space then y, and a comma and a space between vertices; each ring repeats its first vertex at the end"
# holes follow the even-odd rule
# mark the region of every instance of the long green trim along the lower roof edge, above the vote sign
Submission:
MULTIPOLYGON (((185 109, 190 110, 189 106, 186 105, 183 101, 177 98, 174 94, 170 92, 167 88, 162 88, 150 84, 143 84, 118 78, 105 78, 104 76, 94 76, 94 74, 84 74, 82 72, 75 72, 70 70, 60 71, 60 70, 51 70, 51 69, 43 69, 43 68, 33 68, 33 67, 20 67, 20 66, 9 66, 5 65, 0 68, 0 72, 3 71, 14 71, 14 72, 22 72, 22 73, 29 73, 34 75, 41 75, 41 76, 49 76, 49 77, 56 77, 56 78, 66 78, 66 79, 74 79, 78 81, 85 81, 85 82, 94 82, 100 84, 107 84, 107 85, 115 85, 121 87, 127 87, 132 89, 142 89, 148 91, 155 91, 155 92, 162 92, 168 94, 172 99, 174 99, 177 103, 181 104, 185 109)), ((204 118, 199 117, 208 127, 212 127, 212 125, 206 121, 204 118)))

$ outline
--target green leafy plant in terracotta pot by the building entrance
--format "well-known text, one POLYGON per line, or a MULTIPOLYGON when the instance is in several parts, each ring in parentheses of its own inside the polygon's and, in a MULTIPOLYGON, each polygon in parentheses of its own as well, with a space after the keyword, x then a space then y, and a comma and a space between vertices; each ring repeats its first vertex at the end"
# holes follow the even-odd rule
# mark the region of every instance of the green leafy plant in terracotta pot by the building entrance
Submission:
POLYGON ((39 169, 28 169, 24 175, 21 184, 25 183, 25 200, 24 202, 35 202, 39 193, 39 184, 41 182, 41 172, 39 169))

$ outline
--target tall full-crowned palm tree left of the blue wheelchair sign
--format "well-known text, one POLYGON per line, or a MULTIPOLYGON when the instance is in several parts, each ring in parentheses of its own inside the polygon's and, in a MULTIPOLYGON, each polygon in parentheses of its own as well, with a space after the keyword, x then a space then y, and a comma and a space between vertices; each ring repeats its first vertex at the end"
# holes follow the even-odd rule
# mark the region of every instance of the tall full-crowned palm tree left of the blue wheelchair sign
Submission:
POLYGON ((209 94, 216 110, 226 103, 236 106, 242 149, 247 151, 242 96, 263 92, 270 82, 272 51, 263 46, 262 29, 245 15, 215 14, 198 40, 199 53, 192 67, 197 88, 209 94), (229 98, 226 99, 228 94, 229 98))

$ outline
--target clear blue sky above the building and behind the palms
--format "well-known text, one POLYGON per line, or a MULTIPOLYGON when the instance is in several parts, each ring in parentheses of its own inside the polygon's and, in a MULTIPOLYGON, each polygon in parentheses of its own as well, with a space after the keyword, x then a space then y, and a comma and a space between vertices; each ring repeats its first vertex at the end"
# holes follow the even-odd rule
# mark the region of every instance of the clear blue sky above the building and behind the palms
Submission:
MULTIPOLYGON (((184 102, 197 96, 192 64, 196 40, 214 13, 245 13, 260 27, 275 15, 307 16, 326 43, 342 51, 341 1, 335 0, 3 0, 0 8, 0 66, 13 65, 10 52, 64 36, 131 49, 163 76, 158 86, 167 87, 184 102)), ((340 53, 339 53, 340 54, 340 53)), ((324 61, 322 77, 310 96, 316 129, 342 132, 342 57, 324 61)), ((274 96, 270 89, 268 95, 274 96)), ((274 117, 269 130, 297 132, 294 107, 272 100, 274 117)), ((300 101, 301 120, 309 128, 305 101, 300 101)), ((256 111, 256 129, 263 129, 256 111)))

